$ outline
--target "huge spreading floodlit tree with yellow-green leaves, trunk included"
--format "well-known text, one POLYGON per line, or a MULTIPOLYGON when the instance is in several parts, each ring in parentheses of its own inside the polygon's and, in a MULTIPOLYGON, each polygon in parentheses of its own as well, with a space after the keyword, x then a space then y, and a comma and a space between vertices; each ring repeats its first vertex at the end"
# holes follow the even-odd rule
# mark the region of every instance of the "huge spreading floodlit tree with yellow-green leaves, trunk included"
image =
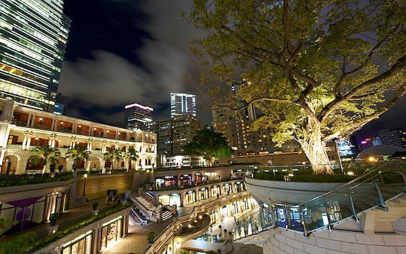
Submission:
POLYGON ((324 141, 358 130, 405 93, 404 13, 401 0, 194 0, 184 16, 206 30, 190 48, 218 106, 254 105, 264 113, 256 128, 273 130, 279 144, 296 140, 323 165, 324 141), (235 95, 224 89, 235 83, 235 95))

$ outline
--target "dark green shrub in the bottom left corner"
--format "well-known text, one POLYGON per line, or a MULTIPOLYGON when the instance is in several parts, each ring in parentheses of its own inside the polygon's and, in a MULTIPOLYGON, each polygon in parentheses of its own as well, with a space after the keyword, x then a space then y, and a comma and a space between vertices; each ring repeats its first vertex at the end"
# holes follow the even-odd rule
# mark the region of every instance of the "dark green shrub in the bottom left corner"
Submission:
POLYGON ((25 253, 36 242, 36 234, 27 232, 0 244, 0 254, 25 253))

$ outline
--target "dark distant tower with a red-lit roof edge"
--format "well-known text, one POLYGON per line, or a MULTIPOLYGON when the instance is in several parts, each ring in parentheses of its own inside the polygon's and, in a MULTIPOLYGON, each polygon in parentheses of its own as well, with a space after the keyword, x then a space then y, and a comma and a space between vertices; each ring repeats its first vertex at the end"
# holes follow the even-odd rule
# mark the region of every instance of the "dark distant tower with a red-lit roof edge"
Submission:
POLYGON ((153 108, 138 103, 129 104, 124 108, 127 129, 143 130, 145 123, 152 122, 153 108))

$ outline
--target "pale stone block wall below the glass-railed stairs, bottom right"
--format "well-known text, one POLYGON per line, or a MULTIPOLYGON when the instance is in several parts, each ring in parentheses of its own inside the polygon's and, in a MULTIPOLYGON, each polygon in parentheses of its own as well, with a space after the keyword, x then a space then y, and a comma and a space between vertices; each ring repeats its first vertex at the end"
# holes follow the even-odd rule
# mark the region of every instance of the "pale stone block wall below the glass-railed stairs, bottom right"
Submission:
POLYGON ((282 229, 261 245, 263 253, 401 254, 406 253, 406 236, 325 230, 305 239, 302 233, 282 229))

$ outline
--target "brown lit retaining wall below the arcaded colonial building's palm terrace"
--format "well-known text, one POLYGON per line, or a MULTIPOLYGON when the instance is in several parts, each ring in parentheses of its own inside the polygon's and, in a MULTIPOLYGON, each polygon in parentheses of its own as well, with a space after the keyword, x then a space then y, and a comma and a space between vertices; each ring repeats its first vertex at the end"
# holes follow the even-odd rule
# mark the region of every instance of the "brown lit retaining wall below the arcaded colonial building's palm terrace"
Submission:
MULTIPOLYGON (((89 200, 106 197, 106 190, 117 189, 118 193, 125 193, 132 189, 134 173, 89 175, 86 178, 85 195, 89 200)), ((83 194, 83 176, 78 176, 76 195, 83 194)))

